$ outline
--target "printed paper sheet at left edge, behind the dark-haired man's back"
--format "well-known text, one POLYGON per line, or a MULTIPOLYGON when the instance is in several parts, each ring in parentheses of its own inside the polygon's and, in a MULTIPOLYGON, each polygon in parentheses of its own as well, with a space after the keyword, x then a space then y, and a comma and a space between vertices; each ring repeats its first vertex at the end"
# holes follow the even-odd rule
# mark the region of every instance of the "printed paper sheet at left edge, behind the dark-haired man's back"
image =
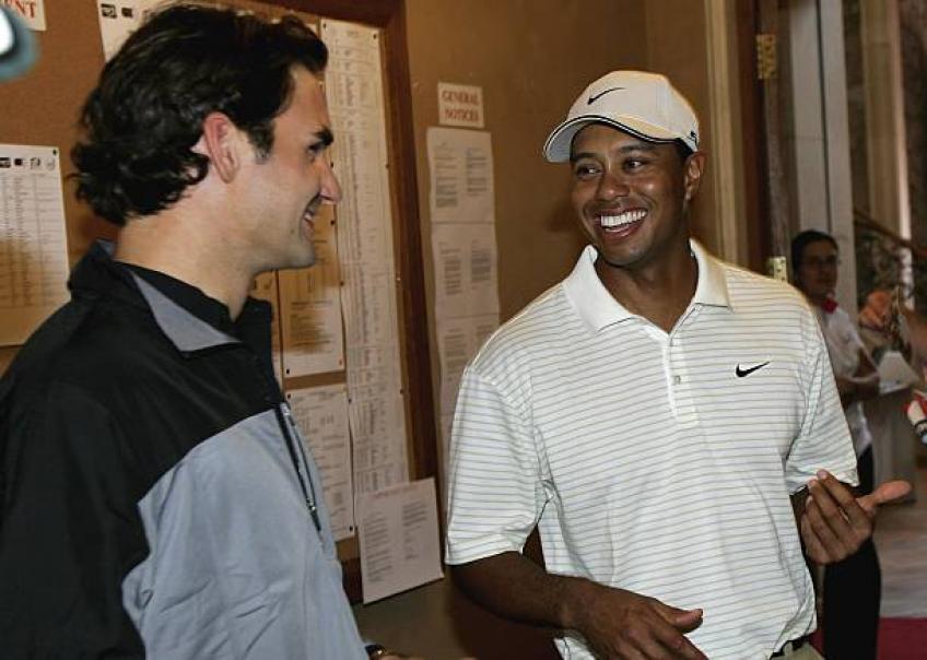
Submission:
POLYGON ((21 344, 68 299, 60 154, 0 144, 0 345, 21 344))

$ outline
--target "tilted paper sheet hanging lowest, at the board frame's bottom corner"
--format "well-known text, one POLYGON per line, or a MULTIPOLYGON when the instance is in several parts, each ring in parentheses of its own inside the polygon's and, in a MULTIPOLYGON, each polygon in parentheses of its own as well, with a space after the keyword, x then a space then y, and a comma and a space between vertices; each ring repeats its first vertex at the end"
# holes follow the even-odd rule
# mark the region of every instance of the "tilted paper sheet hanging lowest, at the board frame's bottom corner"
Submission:
POLYGON ((364 602, 443 577, 434 479, 357 497, 364 602))

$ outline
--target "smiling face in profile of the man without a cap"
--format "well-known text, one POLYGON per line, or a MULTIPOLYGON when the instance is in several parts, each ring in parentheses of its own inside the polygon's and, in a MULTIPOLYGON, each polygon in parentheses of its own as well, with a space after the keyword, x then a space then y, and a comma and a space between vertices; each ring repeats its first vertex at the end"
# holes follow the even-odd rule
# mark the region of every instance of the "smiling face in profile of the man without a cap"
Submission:
POLYGON ((236 214, 255 272, 315 263, 318 208, 341 199, 327 153, 331 121, 321 86, 306 69, 295 68, 292 75, 292 98, 273 121, 270 153, 256 153, 242 172, 246 192, 236 214))

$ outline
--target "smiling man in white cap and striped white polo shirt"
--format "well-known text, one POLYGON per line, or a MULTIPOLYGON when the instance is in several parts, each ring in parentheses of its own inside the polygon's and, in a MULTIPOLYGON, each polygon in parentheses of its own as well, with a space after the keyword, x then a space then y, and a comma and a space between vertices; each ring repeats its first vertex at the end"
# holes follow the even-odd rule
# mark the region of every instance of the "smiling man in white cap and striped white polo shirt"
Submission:
POLYGON ((503 616, 563 630, 568 658, 817 658, 802 541, 815 562, 852 554, 908 485, 854 498, 807 303, 691 239, 706 158, 666 78, 597 80, 544 155, 571 163, 590 245, 462 378, 457 582, 503 616), (536 527, 543 568, 521 554, 536 527))

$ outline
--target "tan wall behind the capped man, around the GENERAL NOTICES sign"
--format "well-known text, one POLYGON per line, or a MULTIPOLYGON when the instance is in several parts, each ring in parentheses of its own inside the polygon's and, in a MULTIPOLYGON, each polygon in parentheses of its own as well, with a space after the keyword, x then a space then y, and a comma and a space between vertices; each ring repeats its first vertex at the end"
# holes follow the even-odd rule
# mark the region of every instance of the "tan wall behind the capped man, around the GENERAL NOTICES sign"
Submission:
POLYGON ((437 83, 480 85, 495 161, 503 318, 573 266, 580 239, 567 207, 568 168, 547 163, 541 146, 588 82, 611 69, 645 67, 644 4, 407 3, 423 244, 430 245, 425 130, 437 123, 437 83))

